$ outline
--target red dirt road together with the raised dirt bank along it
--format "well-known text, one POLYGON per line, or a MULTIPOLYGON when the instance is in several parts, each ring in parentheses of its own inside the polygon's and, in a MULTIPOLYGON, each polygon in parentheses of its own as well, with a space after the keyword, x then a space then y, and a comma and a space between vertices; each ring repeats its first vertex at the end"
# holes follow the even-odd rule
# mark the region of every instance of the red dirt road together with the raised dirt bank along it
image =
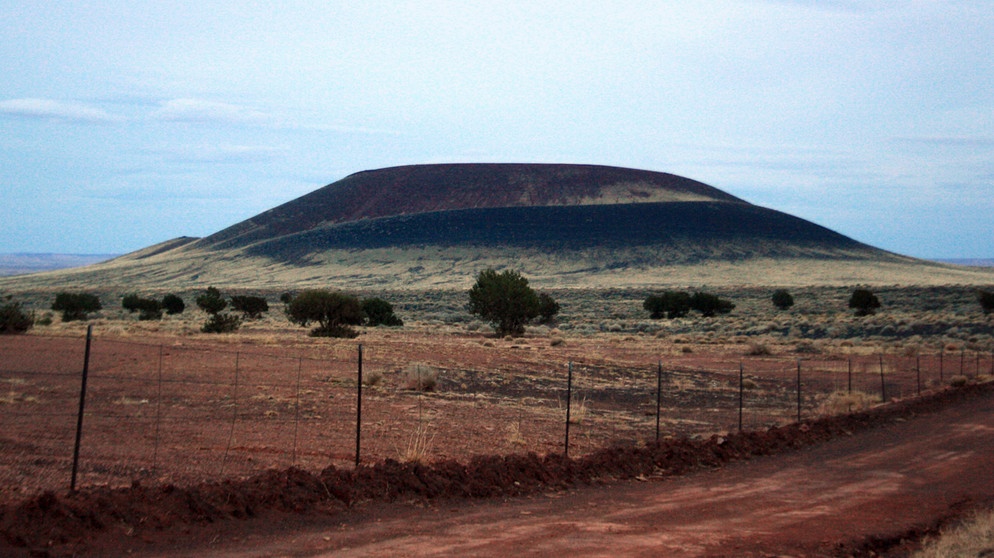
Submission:
POLYGON ((0 509, 0 554, 900 553, 905 539, 994 501, 992 393, 992 384, 966 386, 863 413, 577 459, 386 460, 188 487, 46 492, 0 509), (632 479, 668 481, 619 482, 632 479), (607 486, 590 488, 598 485, 607 486))

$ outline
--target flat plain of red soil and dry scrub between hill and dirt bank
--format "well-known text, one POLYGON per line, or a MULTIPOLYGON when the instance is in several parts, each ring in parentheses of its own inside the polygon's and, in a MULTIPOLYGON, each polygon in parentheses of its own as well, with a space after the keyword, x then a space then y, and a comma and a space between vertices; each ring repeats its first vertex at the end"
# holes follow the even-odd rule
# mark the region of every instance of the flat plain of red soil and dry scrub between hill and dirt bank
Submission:
MULTIPOLYGON (((309 337, 283 315, 281 289, 223 289, 228 296, 265 296, 270 305, 262 319, 224 335, 200 332, 206 315, 192 304, 198 289, 138 290, 155 296, 177 292, 187 302, 183 314, 149 322, 120 308, 121 297, 131 290, 78 289, 99 294, 104 309, 88 322, 70 323, 48 315, 56 289, 17 292, 36 317, 51 323, 0 339, 0 412, 44 409, 59 420, 68 418, 69 426, 54 448, 31 458, 35 465, 29 459, 5 469, 6 486, 17 488, 3 496, 16 501, 36 490, 64 489, 71 442, 66 435, 75 420, 73 397, 88 325, 94 327, 97 363, 94 418, 84 438, 89 445, 80 476, 88 487, 136 480, 192 485, 289 466, 350 468, 360 343, 364 463, 561 454, 570 362, 575 456, 612 443, 645 447, 652 441, 659 363, 666 371, 661 427, 667 439, 706 440, 736 431, 740 367, 745 427, 760 430, 796 419, 798 363, 810 390, 803 401, 805 419, 873 408, 881 402, 881 383, 888 400, 904 399, 960 377, 983 382, 994 373, 994 321, 981 312, 972 285, 875 286, 883 307, 868 317, 855 317, 847 307, 848 286, 789 288, 796 304, 779 311, 770 302, 773 288, 714 285, 699 289, 734 302, 729 315, 674 320, 651 320, 642 309, 645 296, 656 289, 536 286, 559 301, 561 314, 557 323, 530 326, 521 338, 495 337, 489 325, 468 314, 462 289, 350 289, 389 300, 405 321, 399 328, 362 329, 354 340, 309 337), (57 371, 70 371, 68 383, 18 373, 37 370, 50 358, 57 371), (852 394, 846 389, 847 366, 856 377, 852 394), (916 367, 926 371, 923 381, 915 377, 916 367), (172 386, 160 388, 152 380, 163 370, 180 375, 172 386), (419 391, 419 380, 424 385, 426 377, 431 390, 419 391), (161 432, 151 420, 159 400, 170 402, 159 414, 172 421, 163 423, 171 426, 161 432), (125 430, 140 431, 140 443, 122 444, 121 420, 130 425, 125 430), (196 432, 204 425, 212 425, 209 435, 196 432), (48 473, 38 474, 46 467, 48 473)), ((31 443, 6 435, 5 454, 30 453, 29 446, 42 447, 51 437, 44 425, 33 432, 31 443)))

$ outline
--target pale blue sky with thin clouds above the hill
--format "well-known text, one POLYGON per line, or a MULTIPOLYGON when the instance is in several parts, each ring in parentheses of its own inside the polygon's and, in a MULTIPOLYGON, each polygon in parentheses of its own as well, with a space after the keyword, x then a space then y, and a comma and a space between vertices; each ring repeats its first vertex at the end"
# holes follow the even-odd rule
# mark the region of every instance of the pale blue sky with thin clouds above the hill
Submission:
POLYGON ((0 7, 0 252, 203 236, 353 172, 671 172, 919 257, 994 256, 986 1, 0 7))

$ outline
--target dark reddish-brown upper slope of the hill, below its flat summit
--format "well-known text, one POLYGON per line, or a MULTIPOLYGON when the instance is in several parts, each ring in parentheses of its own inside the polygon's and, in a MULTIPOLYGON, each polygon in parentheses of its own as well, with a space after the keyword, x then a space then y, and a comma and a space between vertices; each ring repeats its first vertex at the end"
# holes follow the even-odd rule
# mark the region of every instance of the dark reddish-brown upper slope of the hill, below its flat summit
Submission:
POLYGON ((435 211, 658 201, 744 203, 672 174, 595 165, 414 165, 350 175, 196 243, 230 249, 322 226, 435 211))

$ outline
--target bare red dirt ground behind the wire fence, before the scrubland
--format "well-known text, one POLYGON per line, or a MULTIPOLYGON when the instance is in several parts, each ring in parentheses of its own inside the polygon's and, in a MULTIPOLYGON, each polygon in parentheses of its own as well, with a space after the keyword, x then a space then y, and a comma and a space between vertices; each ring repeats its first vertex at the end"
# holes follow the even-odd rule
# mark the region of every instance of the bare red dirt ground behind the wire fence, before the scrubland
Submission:
MULTIPOLYGON (((351 468, 357 344, 297 333, 97 336, 79 486, 124 488, 136 479, 191 486, 269 469, 351 468)), ((363 463, 404 460, 419 432, 430 447, 418 459, 429 462, 562 452, 567 362, 575 364, 574 408, 584 411, 571 429, 574 457, 615 440, 655 439, 660 355, 662 435, 708 437, 737 430, 740 419, 745 429, 761 429, 796 417, 795 354, 744 358, 743 346, 712 344, 684 352, 689 347, 652 337, 579 337, 553 346, 540 337, 368 332, 363 341, 366 372, 382 373, 363 392, 363 463), (755 387, 740 415, 743 360, 755 387), (411 362, 441 370, 436 392, 404 387, 411 362)), ((0 337, 0 503, 67 487, 84 345, 82 338, 0 337)), ((856 391, 880 391, 879 358, 849 361, 856 391)), ((914 395, 916 359, 887 359, 889 397, 914 395)), ((846 355, 805 359, 804 417, 838 412, 820 407, 845 388, 846 363, 846 355)), ((920 384, 931 389, 940 375, 925 364, 920 384)))

